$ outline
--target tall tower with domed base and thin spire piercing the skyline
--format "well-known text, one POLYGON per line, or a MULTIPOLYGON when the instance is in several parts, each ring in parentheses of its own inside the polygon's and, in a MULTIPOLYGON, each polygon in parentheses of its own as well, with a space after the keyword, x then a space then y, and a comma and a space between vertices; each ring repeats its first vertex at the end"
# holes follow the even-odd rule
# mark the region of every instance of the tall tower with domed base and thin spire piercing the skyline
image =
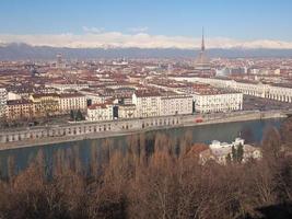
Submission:
POLYGON ((202 27, 201 35, 201 49, 195 60, 195 70, 197 71, 209 71, 211 69, 210 59, 207 56, 205 47, 205 32, 202 27))

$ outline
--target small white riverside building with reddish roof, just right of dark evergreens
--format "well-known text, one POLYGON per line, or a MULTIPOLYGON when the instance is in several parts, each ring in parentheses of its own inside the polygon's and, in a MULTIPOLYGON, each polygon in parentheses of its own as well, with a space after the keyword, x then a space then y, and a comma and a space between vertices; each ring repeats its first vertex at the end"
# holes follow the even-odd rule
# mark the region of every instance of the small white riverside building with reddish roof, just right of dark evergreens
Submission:
POLYGON ((112 103, 93 104, 87 107, 86 120, 103 122, 114 119, 114 105, 112 103))

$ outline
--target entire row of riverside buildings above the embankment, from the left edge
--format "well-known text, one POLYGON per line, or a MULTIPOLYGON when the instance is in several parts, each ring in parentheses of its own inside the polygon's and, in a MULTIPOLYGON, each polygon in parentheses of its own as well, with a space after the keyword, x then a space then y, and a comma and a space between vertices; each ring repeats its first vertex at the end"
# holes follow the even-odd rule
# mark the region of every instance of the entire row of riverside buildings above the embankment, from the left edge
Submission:
POLYGON ((89 89, 73 93, 31 94, 28 99, 7 100, 1 94, 1 108, 8 119, 70 114, 80 110, 90 122, 116 118, 147 118, 242 110, 243 94, 209 85, 189 84, 175 91, 163 89, 128 89, 121 96, 98 93, 89 89), (131 93, 131 94, 130 94, 131 93))

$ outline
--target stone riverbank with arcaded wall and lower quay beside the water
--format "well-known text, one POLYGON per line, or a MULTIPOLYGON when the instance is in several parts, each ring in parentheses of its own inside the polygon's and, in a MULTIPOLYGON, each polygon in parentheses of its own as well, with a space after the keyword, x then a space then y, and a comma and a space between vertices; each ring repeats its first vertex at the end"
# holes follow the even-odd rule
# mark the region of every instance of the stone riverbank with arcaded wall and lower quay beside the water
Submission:
MULTIPOLYGON (((20 139, 17 141, 2 142, 0 150, 46 146, 60 142, 81 141, 84 139, 119 137, 119 136, 141 134, 153 130, 179 128, 179 127, 203 126, 203 125, 224 124, 224 123, 229 124, 235 122, 283 118, 283 117, 285 117, 285 115, 282 114, 281 112, 235 112, 231 114, 185 115, 185 116, 156 117, 156 118, 132 119, 132 120, 121 120, 121 122, 100 123, 100 124, 86 123, 86 124, 74 125, 77 127, 72 125, 63 127, 47 127, 48 134, 51 134, 51 128, 59 128, 59 129, 61 128, 66 132, 69 127, 72 128, 72 130, 70 129, 70 131, 79 130, 79 132, 75 132, 75 135, 74 132, 72 132, 72 135, 58 136, 60 134, 59 131, 56 132, 55 136, 47 135, 42 138, 39 138, 39 136, 35 136, 34 139, 24 139, 24 140, 20 139), (201 122, 198 123, 198 118, 200 118, 201 122), (161 122, 162 124, 160 124, 161 122), (109 125, 112 125, 112 128, 108 129, 109 125), (97 127, 98 128, 107 127, 107 129, 102 131, 94 131, 97 130, 96 129, 97 127), (81 130, 83 130, 83 132, 81 130)), ((43 129, 44 128, 40 128, 39 130, 33 129, 32 131, 43 132, 43 129)), ((25 131, 30 132, 31 130, 25 130, 25 131)), ((19 135, 20 137, 20 135, 23 134, 8 132, 8 135, 10 136, 19 135)))

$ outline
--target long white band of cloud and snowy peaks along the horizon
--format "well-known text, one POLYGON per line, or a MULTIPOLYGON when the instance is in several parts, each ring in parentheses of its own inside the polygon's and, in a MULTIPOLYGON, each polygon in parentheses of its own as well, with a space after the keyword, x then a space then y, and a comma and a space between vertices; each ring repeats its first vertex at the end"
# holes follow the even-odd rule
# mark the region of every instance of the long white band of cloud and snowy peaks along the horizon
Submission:
MULTIPOLYGON (((12 35, 0 34, 1 43, 25 43, 33 46, 54 47, 139 47, 139 48, 199 48, 201 38, 186 36, 149 35, 147 33, 124 34, 120 32, 103 32, 101 28, 83 27, 84 34, 57 35, 12 35)), ((208 48, 292 48, 292 42, 282 41, 238 41, 224 37, 206 38, 208 48)))

